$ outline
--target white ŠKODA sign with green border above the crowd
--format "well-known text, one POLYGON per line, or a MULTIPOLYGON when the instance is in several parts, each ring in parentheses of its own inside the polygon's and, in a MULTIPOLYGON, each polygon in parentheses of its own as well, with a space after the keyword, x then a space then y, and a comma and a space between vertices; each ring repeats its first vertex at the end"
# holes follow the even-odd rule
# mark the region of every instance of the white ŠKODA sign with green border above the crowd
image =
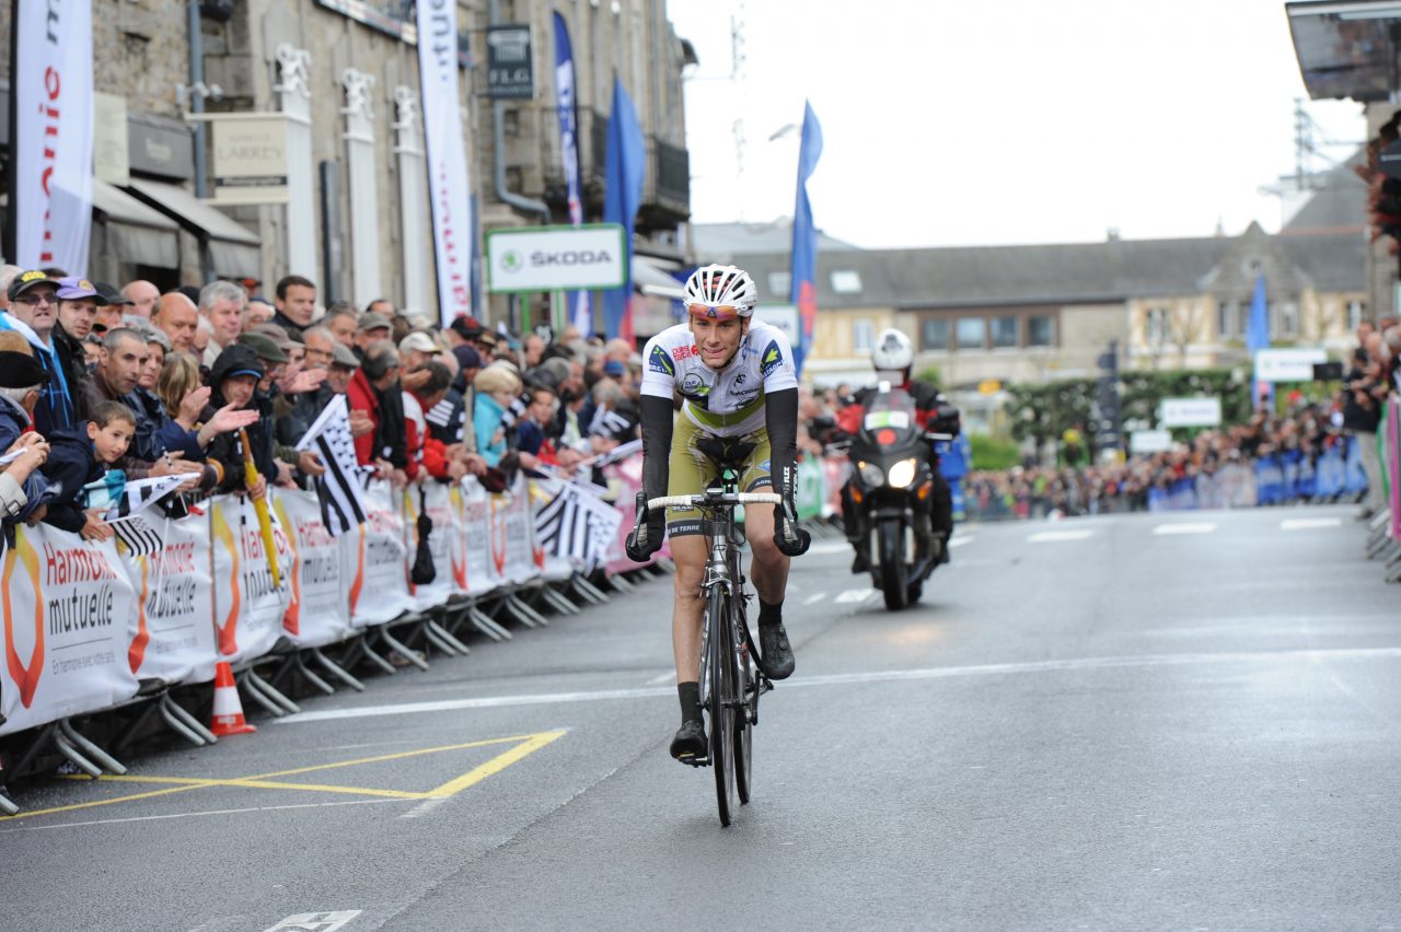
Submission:
POLYGON ((593 291, 623 283, 622 227, 531 227, 486 234, 486 290, 593 291))

